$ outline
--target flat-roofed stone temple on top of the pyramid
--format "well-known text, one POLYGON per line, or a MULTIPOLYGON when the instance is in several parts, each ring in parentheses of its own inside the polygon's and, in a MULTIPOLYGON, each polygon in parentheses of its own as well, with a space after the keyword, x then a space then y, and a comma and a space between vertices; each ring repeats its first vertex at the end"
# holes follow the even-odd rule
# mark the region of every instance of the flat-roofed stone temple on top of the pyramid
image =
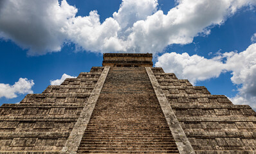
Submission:
POLYGON ((102 66, 152 67, 152 53, 104 53, 102 66))

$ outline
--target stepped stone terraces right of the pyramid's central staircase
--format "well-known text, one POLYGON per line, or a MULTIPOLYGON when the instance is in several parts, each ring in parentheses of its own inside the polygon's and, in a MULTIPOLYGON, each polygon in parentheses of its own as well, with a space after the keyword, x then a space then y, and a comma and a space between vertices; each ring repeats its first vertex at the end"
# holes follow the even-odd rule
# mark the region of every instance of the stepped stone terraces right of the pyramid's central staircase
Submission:
POLYGON ((256 153, 256 113, 223 95, 152 68, 196 153, 256 153))

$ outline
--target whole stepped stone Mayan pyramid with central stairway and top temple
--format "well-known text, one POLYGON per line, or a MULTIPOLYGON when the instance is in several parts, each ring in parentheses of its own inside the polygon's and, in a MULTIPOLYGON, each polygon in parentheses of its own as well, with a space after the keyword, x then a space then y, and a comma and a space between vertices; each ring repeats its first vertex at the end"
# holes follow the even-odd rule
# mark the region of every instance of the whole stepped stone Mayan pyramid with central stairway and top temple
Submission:
POLYGON ((256 153, 256 113, 152 67, 152 54, 106 53, 2 105, 0 153, 256 153))

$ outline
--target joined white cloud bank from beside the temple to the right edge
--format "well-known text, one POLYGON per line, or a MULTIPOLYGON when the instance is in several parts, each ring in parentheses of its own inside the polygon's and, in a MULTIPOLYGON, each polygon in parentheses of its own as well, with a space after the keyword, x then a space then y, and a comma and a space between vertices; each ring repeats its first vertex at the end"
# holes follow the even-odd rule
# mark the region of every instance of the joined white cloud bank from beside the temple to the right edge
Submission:
POLYGON ((178 78, 187 78, 192 83, 230 71, 231 81, 239 85, 237 96, 231 98, 233 103, 250 104, 256 109, 256 43, 241 53, 232 51, 211 59, 187 53, 165 53, 158 57, 156 67, 163 67, 166 72, 176 73, 178 78))

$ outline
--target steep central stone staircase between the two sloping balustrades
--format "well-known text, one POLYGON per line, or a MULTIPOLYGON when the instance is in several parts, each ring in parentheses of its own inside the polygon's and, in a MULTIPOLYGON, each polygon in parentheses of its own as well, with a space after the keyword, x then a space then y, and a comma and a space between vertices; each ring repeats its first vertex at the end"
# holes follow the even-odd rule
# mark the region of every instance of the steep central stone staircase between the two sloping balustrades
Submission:
POLYGON ((111 67, 78 153, 179 153, 144 67, 111 67))

